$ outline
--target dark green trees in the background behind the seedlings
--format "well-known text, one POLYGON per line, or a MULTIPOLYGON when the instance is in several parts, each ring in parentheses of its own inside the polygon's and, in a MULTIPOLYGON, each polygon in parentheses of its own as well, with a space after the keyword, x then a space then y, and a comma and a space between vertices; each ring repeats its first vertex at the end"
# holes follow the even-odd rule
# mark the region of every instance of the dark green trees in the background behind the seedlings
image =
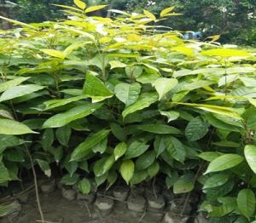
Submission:
MULTIPOLYGON (((24 22, 41 22, 61 18, 52 3, 73 5, 72 0, 13 0, 17 7, 13 18, 24 22)), ((159 14, 170 5, 183 14, 165 20, 162 25, 178 31, 202 31, 204 37, 220 34, 222 43, 256 44, 256 2, 254 0, 90 0, 88 5, 109 4, 106 9, 141 13, 147 9, 159 14)), ((103 11, 102 15, 107 15, 103 11)))

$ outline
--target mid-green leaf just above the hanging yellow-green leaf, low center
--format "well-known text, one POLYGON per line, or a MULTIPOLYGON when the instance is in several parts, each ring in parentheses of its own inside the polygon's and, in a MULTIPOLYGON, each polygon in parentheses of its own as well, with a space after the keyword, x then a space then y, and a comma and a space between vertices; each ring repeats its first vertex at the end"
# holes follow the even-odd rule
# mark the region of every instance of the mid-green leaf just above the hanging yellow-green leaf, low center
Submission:
POLYGON ((144 144, 142 141, 133 141, 125 152, 125 159, 139 157, 148 150, 148 147, 149 146, 144 144))

